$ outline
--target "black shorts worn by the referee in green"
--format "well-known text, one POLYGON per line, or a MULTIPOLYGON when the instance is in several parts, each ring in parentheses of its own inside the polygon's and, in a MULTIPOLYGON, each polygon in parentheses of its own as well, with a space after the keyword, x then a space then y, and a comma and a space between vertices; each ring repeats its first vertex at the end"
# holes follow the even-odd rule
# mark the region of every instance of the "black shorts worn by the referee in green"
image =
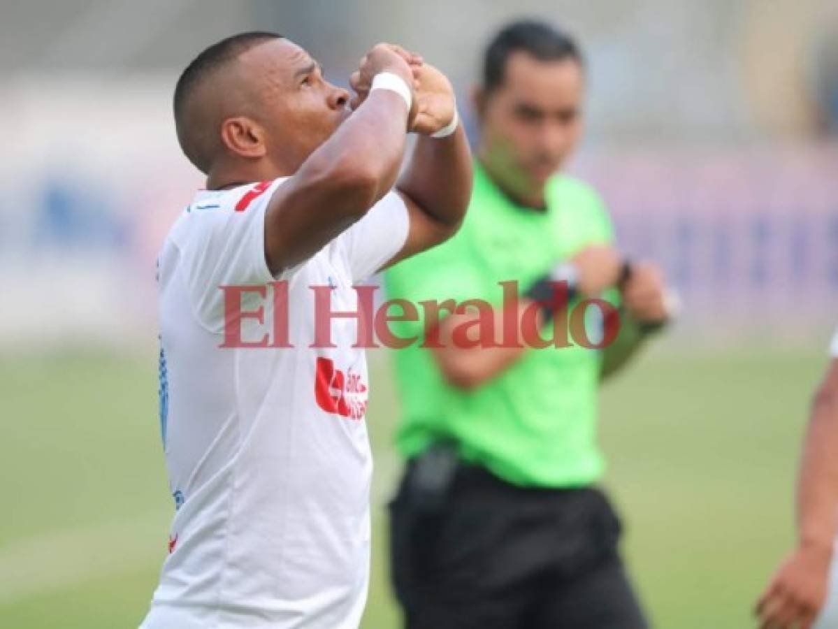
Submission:
POLYGON ((440 508, 411 467, 391 503, 391 575, 408 629, 644 629, 596 488, 516 487, 460 464, 440 508))

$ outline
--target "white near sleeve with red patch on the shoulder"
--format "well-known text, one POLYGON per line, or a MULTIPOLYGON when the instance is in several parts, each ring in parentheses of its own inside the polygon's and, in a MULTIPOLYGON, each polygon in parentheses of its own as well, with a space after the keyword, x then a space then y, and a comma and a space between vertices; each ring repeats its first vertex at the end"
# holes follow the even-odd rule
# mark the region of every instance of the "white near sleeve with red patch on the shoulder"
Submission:
POLYGON ((213 331, 223 328, 221 286, 261 286, 290 279, 302 266, 272 276, 265 259, 265 213, 283 180, 262 184, 262 192, 256 188, 260 184, 253 184, 199 198, 173 234, 189 302, 213 331))

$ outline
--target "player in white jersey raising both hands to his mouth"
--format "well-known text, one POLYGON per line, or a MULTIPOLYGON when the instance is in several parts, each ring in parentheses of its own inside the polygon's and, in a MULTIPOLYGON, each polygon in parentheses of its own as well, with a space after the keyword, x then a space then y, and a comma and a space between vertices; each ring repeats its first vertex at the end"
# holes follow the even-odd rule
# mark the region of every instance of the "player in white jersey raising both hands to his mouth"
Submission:
POLYGON ((350 112, 349 93, 271 33, 210 46, 178 80, 178 140, 207 183, 158 259, 177 511, 145 629, 359 624, 365 354, 346 317, 330 320, 331 347, 311 347, 312 288, 353 311, 354 282, 458 228, 472 168, 451 85, 420 57, 376 45, 351 85, 350 112), (418 139, 396 181, 407 131, 418 139), (272 291, 287 326, 269 323, 286 311, 272 291))

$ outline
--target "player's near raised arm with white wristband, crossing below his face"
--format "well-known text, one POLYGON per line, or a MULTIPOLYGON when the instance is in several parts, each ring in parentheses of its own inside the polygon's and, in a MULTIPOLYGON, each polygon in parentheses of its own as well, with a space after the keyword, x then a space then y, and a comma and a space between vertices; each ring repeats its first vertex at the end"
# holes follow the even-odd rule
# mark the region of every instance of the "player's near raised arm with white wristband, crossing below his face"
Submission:
POLYGON ((372 81, 369 97, 269 204, 265 253, 273 272, 307 259, 396 183, 411 118, 412 70, 387 44, 370 50, 362 65, 372 81))

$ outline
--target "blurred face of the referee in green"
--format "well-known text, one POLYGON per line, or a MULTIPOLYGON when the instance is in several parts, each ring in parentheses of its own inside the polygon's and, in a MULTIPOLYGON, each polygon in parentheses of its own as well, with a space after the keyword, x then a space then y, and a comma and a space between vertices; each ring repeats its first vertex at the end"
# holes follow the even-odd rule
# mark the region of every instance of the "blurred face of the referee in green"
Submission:
POLYGON ((486 95, 480 154, 505 185, 538 195, 582 134, 584 76, 574 59, 510 55, 504 83, 486 95))

